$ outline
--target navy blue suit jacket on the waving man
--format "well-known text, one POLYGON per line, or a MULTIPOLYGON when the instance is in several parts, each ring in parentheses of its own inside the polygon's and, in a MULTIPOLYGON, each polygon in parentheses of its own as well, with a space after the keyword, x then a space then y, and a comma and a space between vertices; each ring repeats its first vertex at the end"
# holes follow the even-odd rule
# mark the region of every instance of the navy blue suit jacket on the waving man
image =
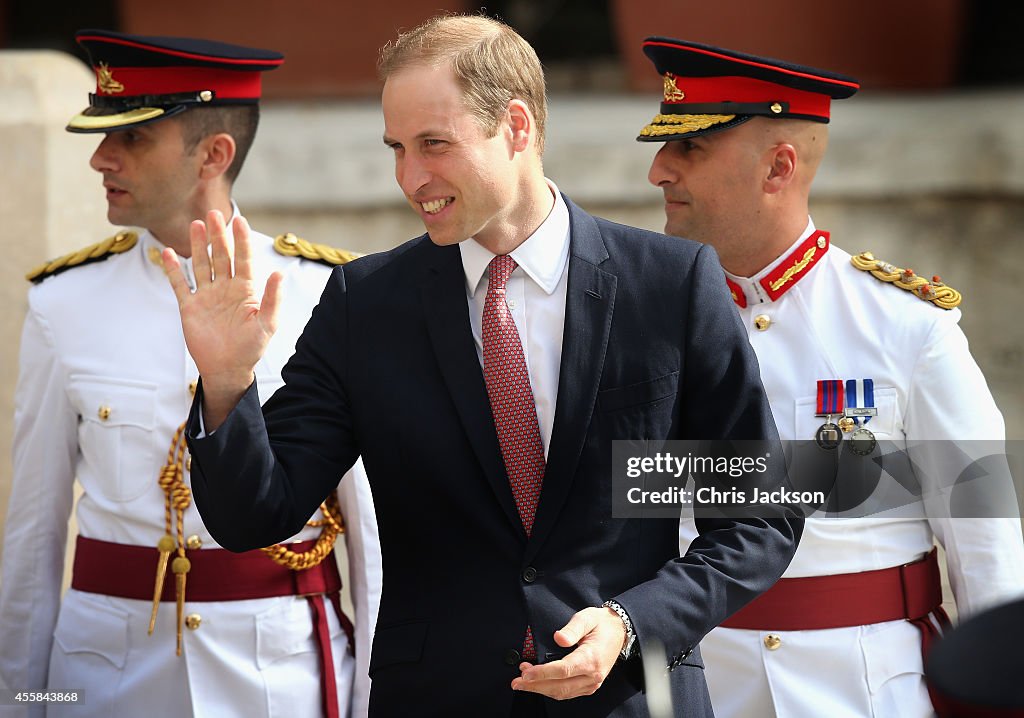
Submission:
MULTIPOLYGON (((294 535, 362 456, 384 558, 374 715, 508 715, 527 624, 540 660, 554 660, 566 652, 554 631, 609 598, 641 644, 666 646, 677 714, 711 715, 697 642, 796 550, 799 518, 705 519, 681 558, 678 521, 612 518, 613 439, 776 434, 715 252, 568 205, 561 370, 529 538, 461 254, 426 236, 336 269, 285 387, 262 412, 250 389, 214 434, 189 440, 200 512, 239 551, 294 535)), ((643 687, 640 661, 620 662, 594 695, 548 713, 645 716, 643 687)))

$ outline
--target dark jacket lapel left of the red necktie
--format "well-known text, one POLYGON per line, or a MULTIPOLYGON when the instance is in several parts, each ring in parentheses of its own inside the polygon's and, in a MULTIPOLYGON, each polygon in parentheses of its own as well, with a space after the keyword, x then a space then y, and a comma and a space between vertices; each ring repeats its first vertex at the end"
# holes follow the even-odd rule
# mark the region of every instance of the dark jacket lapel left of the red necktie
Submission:
POLYGON ((424 319, 463 430, 509 521, 525 540, 525 531, 509 488, 483 371, 476 355, 466 300, 466 276, 457 246, 438 247, 421 286, 424 319))

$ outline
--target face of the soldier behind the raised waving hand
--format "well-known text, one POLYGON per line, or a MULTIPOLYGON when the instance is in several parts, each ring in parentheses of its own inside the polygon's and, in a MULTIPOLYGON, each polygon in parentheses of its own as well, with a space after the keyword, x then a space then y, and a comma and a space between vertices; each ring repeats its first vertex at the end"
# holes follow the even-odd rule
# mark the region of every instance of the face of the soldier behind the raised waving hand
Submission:
POLYGON ((106 218, 112 224, 144 227, 157 237, 191 217, 201 159, 187 153, 175 119, 108 132, 89 161, 103 175, 106 218))

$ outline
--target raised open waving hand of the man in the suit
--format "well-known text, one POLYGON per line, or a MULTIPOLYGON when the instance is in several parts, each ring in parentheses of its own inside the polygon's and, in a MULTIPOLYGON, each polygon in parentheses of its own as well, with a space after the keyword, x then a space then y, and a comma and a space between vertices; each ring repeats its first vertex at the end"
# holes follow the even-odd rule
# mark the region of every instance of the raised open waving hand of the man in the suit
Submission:
POLYGON ((164 269, 181 312, 188 352, 203 378, 203 420, 213 431, 253 382, 254 370, 278 329, 282 276, 270 274, 262 301, 252 279, 249 224, 232 222, 233 243, 217 210, 189 227, 196 291, 191 291, 172 249, 164 269))

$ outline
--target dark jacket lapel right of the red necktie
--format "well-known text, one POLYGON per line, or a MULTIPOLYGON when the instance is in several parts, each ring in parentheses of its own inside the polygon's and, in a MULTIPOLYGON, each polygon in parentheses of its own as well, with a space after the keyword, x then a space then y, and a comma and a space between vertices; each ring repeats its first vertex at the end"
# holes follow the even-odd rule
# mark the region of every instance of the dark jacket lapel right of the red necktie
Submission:
POLYGON ((569 208, 569 269, 558 396, 527 561, 557 521, 572 485, 597 402, 615 303, 617 278, 599 266, 608 252, 597 222, 568 198, 565 203, 569 208))

